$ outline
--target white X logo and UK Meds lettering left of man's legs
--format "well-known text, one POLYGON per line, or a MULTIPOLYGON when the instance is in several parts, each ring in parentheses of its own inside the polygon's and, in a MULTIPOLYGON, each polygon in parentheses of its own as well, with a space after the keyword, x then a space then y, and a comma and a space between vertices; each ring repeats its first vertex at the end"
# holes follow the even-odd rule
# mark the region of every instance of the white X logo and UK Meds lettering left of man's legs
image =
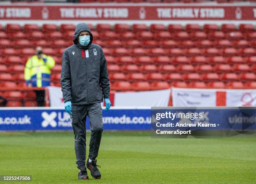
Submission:
POLYGON ((42 112, 41 116, 44 118, 41 123, 44 128, 48 126, 52 128, 72 127, 71 119, 67 112, 42 112))

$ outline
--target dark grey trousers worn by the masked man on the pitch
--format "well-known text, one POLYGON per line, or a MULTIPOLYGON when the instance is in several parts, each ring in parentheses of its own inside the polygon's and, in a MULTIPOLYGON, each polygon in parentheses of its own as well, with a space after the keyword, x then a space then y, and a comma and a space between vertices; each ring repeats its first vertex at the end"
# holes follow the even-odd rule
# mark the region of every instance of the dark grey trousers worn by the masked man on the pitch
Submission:
POLYGON ((100 103, 92 105, 72 105, 72 126, 75 139, 75 153, 77 157, 77 168, 85 167, 86 160, 86 117, 90 119, 90 148, 89 158, 95 159, 98 156, 100 140, 102 135, 102 108, 100 103))

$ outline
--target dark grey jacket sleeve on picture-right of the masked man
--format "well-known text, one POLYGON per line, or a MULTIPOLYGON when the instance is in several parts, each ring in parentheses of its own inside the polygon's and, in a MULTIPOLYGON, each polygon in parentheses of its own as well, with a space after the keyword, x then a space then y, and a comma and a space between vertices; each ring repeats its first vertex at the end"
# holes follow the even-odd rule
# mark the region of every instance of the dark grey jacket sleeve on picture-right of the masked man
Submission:
POLYGON ((110 82, 108 78, 107 61, 101 48, 100 53, 100 86, 102 88, 103 97, 109 98, 110 82))

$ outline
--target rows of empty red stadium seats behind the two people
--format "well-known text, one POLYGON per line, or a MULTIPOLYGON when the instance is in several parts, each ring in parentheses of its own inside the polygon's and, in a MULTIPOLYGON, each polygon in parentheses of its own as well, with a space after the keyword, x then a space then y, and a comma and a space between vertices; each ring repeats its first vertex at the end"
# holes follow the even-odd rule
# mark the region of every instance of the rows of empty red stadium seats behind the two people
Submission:
MULTIPOLYGON (((102 46, 111 90, 141 91, 175 87, 256 88, 256 31, 251 24, 97 24, 93 43, 102 46)), ((35 46, 56 61, 51 85, 60 86, 61 55, 72 45, 75 25, 0 26, 0 85, 24 87, 24 65, 35 46)), ((34 105, 21 92, 0 92, 15 106, 34 105), (22 105, 22 104, 18 104, 22 105)))

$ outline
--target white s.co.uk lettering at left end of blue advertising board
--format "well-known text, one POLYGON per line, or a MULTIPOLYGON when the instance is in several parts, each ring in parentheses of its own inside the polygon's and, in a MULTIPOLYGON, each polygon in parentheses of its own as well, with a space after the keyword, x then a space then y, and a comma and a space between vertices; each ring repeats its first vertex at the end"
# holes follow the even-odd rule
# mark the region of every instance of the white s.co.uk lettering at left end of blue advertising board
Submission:
POLYGON ((28 115, 24 117, 0 117, 0 125, 26 125, 31 124, 31 118, 28 115))

